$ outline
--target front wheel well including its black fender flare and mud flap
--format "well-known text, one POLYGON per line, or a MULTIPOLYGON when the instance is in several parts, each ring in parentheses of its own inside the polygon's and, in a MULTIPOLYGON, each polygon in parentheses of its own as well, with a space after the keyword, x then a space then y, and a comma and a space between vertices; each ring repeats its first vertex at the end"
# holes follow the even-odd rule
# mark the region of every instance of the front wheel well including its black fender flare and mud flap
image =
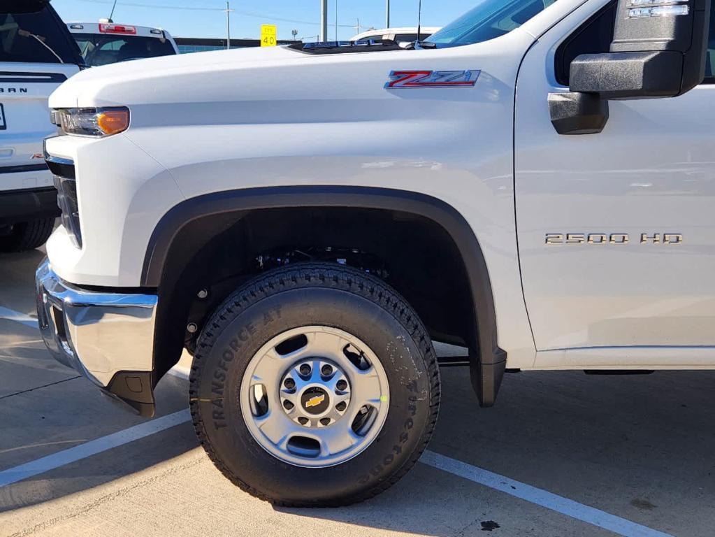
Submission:
POLYGON ((154 383, 184 347, 192 350, 231 292, 265 270, 300 261, 350 265, 383 278, 433 339, 469 349, 480 402, 493 401, 506 353, 497 345, 478 242, 452 207, 388 189, 249 189, 174 207, 154 230, 142 274, 142 285, 159 294, 154 383))

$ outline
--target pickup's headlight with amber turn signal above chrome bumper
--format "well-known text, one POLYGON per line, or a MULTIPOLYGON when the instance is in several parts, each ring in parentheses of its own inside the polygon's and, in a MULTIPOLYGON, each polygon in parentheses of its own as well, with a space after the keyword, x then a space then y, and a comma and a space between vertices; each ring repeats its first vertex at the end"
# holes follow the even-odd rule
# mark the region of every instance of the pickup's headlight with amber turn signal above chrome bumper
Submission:
POLYGON ((52 122, 66 134, 112 136, 129 128, 129 109, 116 107, 53 110, 52 122))

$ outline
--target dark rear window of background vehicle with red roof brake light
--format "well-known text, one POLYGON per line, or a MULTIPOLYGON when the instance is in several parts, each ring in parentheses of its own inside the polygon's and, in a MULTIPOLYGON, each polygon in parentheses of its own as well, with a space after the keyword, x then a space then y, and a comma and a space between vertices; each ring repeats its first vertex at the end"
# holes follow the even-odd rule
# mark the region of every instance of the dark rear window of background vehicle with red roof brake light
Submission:
POLYGON ((176 54, 168 39, 105 34, 72 34, 84 63, 97 67, 139 58, 176 54))

